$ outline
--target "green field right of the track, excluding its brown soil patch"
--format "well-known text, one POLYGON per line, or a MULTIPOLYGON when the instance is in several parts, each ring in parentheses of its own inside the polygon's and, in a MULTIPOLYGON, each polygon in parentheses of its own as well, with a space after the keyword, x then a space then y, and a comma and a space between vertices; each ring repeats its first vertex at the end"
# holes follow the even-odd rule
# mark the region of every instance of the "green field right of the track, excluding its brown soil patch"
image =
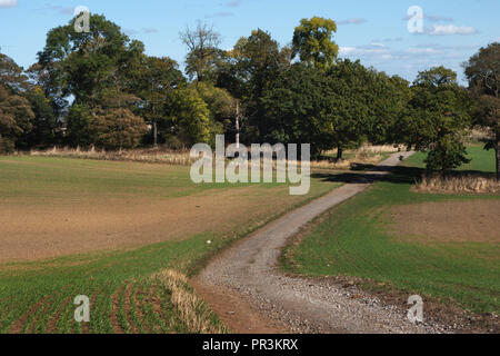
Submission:
MULTIPOLYGON (((492 171, 491 152, 472 147, 464 170, 492 171)), ((421 166, 423 155, 408 164, 421 166)), ((308 276, 356 276, 410 294, 452 300, 473 312, 500 312, 500 244, 421 243, 394 238, 388 211, 430 201, 500 199, 500 196, 411 191, 421 171, 401 168, 390 179, 333 208, 299 245, 287 248, 283 267, 308 276)), ((498 214, 492 212, 498 217, 498 214)), ((409 295, 410 295, 409 294, 409 295)))

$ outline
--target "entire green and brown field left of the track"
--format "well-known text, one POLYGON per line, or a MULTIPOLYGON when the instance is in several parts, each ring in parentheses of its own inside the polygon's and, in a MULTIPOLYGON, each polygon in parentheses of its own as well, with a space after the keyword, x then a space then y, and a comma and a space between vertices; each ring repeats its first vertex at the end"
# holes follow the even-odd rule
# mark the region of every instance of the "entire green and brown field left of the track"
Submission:
POLYGON ((203 261, 338 184, 196 185, 189 167, 0 157, 0 333, 219 333, 203 261), (90 323, 73 299, 90 298, 90 323))

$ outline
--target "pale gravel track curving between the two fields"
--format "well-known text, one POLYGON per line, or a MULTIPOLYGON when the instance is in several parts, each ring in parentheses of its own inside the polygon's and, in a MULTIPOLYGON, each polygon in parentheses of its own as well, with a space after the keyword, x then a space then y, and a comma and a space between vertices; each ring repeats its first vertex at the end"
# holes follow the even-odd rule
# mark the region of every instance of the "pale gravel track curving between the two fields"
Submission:
MULTIPOLYGON (((397 166, 400 155, 380 167, 397 166)), ((277 267, 281 249, 302 226, 367 189, 383 171, 366 175, 371 177, 366 182, 347 184, 238 241, 192 280, 194 289, 234 333, 442 332, 437 325, 413 325, 401 308, 361 290, 286 276, 277 267)))

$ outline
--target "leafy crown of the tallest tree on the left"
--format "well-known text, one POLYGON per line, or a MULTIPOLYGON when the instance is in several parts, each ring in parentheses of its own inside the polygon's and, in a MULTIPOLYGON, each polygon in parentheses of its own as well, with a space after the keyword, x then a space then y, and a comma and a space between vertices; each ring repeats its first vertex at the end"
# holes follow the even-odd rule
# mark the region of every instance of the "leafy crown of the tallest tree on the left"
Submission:
POLYGON ((140 59, 143 44, 131 41, 116 23, 91 14, 90 32, 74 31, 74 21, 49 31, 38 53, 39 71, 53 96, 74 96, 77 101, 99 105, 101 91, 124 80, 131 62, 140 59))

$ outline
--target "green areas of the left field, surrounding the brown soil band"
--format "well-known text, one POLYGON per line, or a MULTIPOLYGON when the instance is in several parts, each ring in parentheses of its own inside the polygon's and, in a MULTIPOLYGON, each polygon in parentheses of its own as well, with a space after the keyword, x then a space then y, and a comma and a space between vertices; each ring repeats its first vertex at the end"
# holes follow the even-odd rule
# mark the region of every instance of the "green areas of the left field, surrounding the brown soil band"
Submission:
MULTIPOLYGON (((180 239, 138 248, 1 263, 0 333, 224 332, 183 277, 172 279, 169 274, 161 276, 158 273, 173 270, 181 276, 192 276, 210 256, 236 238, 336 186, 313 179, 309 195, 293 198, 288 195, 287 185, 198 186, 189 179, 189 167, 0 157, 0 217, 1 211, 7 214, 14 206, 21 212, 26 209, 26 215, 29 215, 33 209, 39 211, 52 206, 78 209, 82 201, 90 199, 89 209, 93 205, 110 205, 112 210, 120 201, 168 202, 197 195, 210 201, 211 197, 217 199, 220 194, 232 190, 241 191, 242 199, 253 199, 262 207, 261 212, 266 212, 262 216, 259 211, 253 215, 252 211, 242 211, 244 224, 226 224, 198 234, 187 233, 180 239), (270 200, 274 204, 269 205, 270 200), (208 240, 211 244, 207 244, 208 240), (73 320, 77 307, 73 299, 78 295, 89 296, 91 300, 89 324, 73 320)), ((19 219, 22 218, 21 215, 19 219)), ((57 219, 49 221, 53 224, 57 219)), ((197 225, 197 220, 191 225, 197 225)), ((0 244, 9 238, 6 235, 4 227, 0 227, 0 244)), ((78 235, 72 238, 78 239, 78 235)), ((34 248, 43 245, 42 240, 36 243, 34 248)))

